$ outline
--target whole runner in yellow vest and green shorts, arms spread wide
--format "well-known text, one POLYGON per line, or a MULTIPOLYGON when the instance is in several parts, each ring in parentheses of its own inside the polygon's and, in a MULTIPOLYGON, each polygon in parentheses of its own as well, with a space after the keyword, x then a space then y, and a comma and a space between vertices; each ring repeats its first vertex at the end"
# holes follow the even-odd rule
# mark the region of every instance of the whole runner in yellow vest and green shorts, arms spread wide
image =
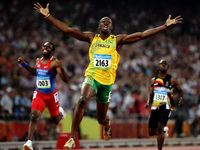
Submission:
POLYGON ((87 102, 94 96, 97 100, 97 119, 99 124, 104 127, 104 138, 111 138, 111 127, 107 117, 109 101, 111 99, 111 89, 115 82, 116 70, 119 63, 119 54, 117 51, 124 44, 134 43, 136 41, 153 36, 173 25, 182 22, 180 16, 171 19, 168 17, 166 22, 156 28, 144 32, 133 34, 111 35, 112 20, 109 17, 103 17, 99 21, 98 32, 82 32, 78 29, 69 27, 64 22, 53 17, 49 12, 49 4, 44 8, 39 3, 34 4, 34 9, 42 14, 48 22, 53 24, 61 31, 67 33, 78 40, 88 42, 90 63, 85 72, 85 81, 81 88, 81 96, 76 105, 73 115, 71 138, 66 142, 64 148, 73 148, 75 146, 74 133, 80 125, 83 118, 84 109, 87 102))

